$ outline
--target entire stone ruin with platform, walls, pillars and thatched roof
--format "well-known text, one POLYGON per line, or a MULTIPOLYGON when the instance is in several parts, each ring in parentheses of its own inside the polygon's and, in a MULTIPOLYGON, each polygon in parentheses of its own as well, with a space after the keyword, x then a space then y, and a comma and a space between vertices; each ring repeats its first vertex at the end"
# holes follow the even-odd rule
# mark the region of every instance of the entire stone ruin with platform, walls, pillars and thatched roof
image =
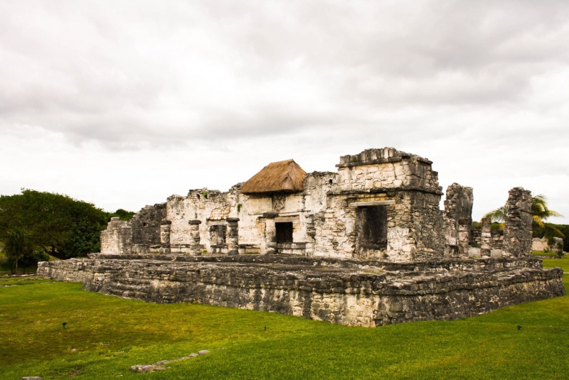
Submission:
POLYGON ((157 303, 275 311, 344 325, 443 319, 565 294, 531 256, 531 192, 509 192, 504 232, 472 229, 472 188, 394 148, 342 156, 337 172, 271 163, 245 183, 190 190, 112 218, 101 252, 38 273, 157 303))

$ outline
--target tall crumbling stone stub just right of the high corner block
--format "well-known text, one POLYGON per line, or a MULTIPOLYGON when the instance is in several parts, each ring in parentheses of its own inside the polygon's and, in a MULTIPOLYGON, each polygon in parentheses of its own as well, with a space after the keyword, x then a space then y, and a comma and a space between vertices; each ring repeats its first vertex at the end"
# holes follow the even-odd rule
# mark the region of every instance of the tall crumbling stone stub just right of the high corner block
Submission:
POLYGON ((472 242, 470 230, 472 229, 473 203, 472 188, 461 186, 458 183, 453 183, 447 188, 444 212, 447 243, 445 256, 467 256, 468 244, 472 242), (462 234, 460 233, 461 229, 463 230, 462 234))

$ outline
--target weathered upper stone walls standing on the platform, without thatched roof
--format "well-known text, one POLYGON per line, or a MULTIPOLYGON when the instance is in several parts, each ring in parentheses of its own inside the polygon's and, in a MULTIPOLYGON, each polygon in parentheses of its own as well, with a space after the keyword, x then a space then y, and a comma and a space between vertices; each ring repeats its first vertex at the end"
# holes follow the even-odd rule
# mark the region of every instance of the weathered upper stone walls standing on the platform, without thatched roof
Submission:
MULTIPOLYGON (((280 252, 409 261, 466 257, 472 251, 472 188, 451 185, 441 211, 442 189, 431 161, 383 148, 343 156, 336 166, 338 173, 307 174, 299 192, 242 194, 240 183, 228 192, 202 188, 172 195, 166 203, 144 207, 127 224, 110 223, 101 235, 102 252, 280 252), (372 214, 377 216, 373 229, 366 217, 372 214), (170 222, 169 241, 160 238, 163 219, 170 222), (292 223, 292 242, 277 244, 277 228, 283 226, 278 223, 292 223)), ((516 194, 511 197, 521 196, 516 194)), ((521 198, 516 202, 526 207, 521 198)), ((520 207, 511 208, 508 222, 509 249, 515 255, 526 254, 531 234, 520 207)), ((488 256, 487 247, 482 256, 488 256)))

